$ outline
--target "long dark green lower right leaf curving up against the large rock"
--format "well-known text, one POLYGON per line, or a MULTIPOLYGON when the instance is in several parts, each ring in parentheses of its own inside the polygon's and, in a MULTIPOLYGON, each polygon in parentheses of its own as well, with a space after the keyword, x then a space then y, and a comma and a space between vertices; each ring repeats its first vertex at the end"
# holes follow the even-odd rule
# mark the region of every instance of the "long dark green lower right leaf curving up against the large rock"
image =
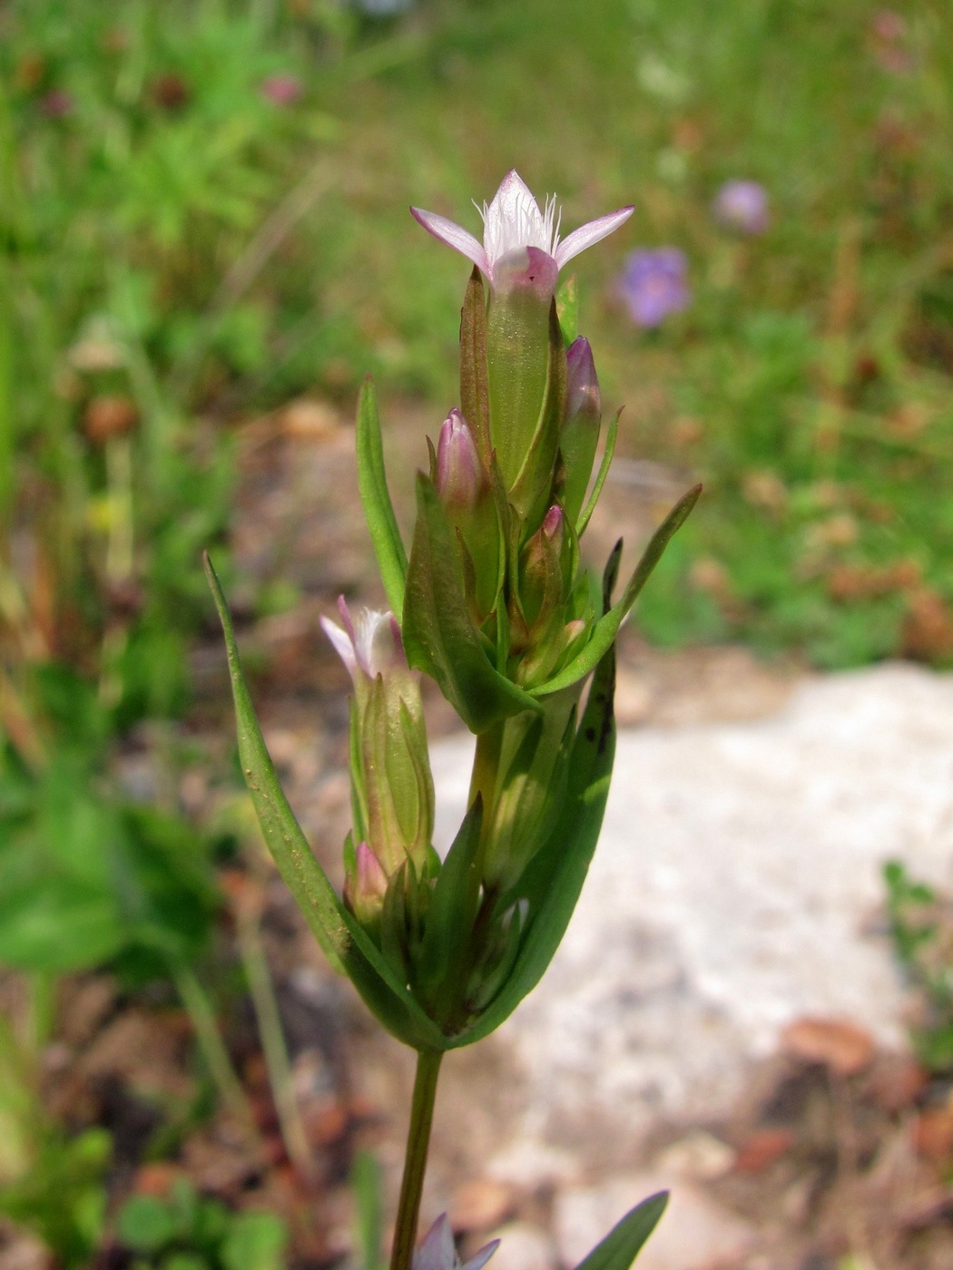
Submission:
POLYGON ((507 1019, 546 972, 562 942, 596 850, 615 758, 615 648, 610 645, 590 686, 568 765, 559 823, 536 851, 512 898, 529 902, 526 933, 512 973, 488 1008, 451 1045, 471 1045, 507 1019))

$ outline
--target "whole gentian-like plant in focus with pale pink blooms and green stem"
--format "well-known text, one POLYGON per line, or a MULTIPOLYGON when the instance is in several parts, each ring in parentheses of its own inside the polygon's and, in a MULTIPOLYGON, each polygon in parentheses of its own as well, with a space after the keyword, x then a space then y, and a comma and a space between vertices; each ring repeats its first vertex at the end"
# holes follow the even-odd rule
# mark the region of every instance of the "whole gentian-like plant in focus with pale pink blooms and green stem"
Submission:
MULTIPOLYGON (((324 629, 353 681, 353 833, 338 898, 274 775, 225 629, 241 766, 264 837, 311 930, 388 1030, 418 1053, 391 1270, 454 1270, 446 1223, 414 1257, 442 1055, 487 1036, 544 974, 598 837, 615 752, 615 638, 700 488, 672 509, 614 598, 621 541, 601 587, 579 540, 600 497, 619 417, 593 479, 601 396, 592 352, 560 323, 555 286, 572 257, 618 229, 621 208, 565 239, 511 171, 483 208, 480 244, 412 208, 474 264, 460 324, 460 404, 417 478, 409 554, 384 474, 374 390, 357 411, 363 509, 390 613, 324 629), (469 810, 443 860, 431 843, 433 785, 419 674, 476 737, 469 810), (586 686, 588 691, 586 692, 586 686)), ((635 1208, 586 1260, 626 1270, 661 1215, 635 1208)), ((475 1259, 479 1261, 480 1259, 475 1259)))

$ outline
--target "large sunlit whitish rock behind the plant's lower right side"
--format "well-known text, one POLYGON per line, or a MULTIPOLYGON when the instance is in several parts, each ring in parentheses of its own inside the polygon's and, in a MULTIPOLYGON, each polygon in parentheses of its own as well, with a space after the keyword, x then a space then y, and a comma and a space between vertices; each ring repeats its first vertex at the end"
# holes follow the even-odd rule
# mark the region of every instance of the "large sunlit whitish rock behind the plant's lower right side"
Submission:
MULTIPOLYGON (((435 747, 438 838, 463 814, 469 738, 435 747)), ((902 1039, 883 862, 949 883, 953 676, 818 677, 760 721, 619 738, 582 899, 501 1036, 526 1073, 520 1130, 723 1110, 746 1060, 802 1015, 902 1039)), ((512 1126, 517 1129, 516 1125, 512 1126)))

